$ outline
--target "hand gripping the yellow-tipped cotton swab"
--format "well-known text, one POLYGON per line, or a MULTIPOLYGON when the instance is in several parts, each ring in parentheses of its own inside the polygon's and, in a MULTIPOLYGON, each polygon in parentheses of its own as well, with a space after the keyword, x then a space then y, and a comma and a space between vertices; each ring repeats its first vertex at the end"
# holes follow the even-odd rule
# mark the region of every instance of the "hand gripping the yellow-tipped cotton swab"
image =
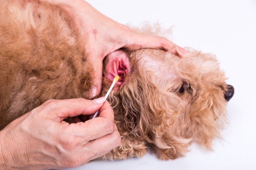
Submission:
POLYGON ((48 100, 11 122, 0 131, 0 169, 76 167, 117 147, 120 134, 103 99, 48 100), (98 110, 99 117, 86 122, 63 121, 98 110))

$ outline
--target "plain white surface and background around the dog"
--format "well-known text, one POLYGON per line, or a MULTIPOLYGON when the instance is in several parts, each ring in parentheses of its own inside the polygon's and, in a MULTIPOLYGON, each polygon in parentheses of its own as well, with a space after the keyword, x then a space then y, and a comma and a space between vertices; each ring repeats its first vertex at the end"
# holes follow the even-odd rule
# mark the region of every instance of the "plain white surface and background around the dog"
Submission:
POLYGON ((144 21, 173 26, 172 41, 216 54, 235 94, 227 106, 229 124, 214 151, 197 145, 184 158, 160 161, 154 155, 124 161, 96 161, 76 170, 256 170, 256 1, 255 0, 88 0, 123 23, 144 21))

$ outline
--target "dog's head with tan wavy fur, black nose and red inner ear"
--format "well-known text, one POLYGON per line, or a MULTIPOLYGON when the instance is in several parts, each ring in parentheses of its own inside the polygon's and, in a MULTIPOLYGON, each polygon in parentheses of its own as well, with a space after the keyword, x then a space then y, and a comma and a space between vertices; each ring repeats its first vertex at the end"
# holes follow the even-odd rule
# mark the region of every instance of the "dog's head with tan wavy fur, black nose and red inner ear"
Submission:
POLYGON ((211 149, 234 94, 215 56, 190 54, 144 49, 105 59, 103 93, 120 76, 109 96, 118 130, 144 138, 162 159, 183 156, 191 141, 211 149))

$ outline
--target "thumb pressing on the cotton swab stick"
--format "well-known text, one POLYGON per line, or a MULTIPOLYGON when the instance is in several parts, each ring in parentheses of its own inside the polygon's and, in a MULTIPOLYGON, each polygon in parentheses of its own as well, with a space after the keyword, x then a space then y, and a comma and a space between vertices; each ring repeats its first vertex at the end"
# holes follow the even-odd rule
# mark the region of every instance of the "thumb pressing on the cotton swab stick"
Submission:
POLYGON ((94 100, 87 100, 83 98, 49 100, 49 102, 45 102, 46 106, 44 107, 48 110, 46 113, 50 113, 47 115, 48 118, 60 122, 68 117, 94 114, 101 108, 104 100, 105 97, 94 100))

